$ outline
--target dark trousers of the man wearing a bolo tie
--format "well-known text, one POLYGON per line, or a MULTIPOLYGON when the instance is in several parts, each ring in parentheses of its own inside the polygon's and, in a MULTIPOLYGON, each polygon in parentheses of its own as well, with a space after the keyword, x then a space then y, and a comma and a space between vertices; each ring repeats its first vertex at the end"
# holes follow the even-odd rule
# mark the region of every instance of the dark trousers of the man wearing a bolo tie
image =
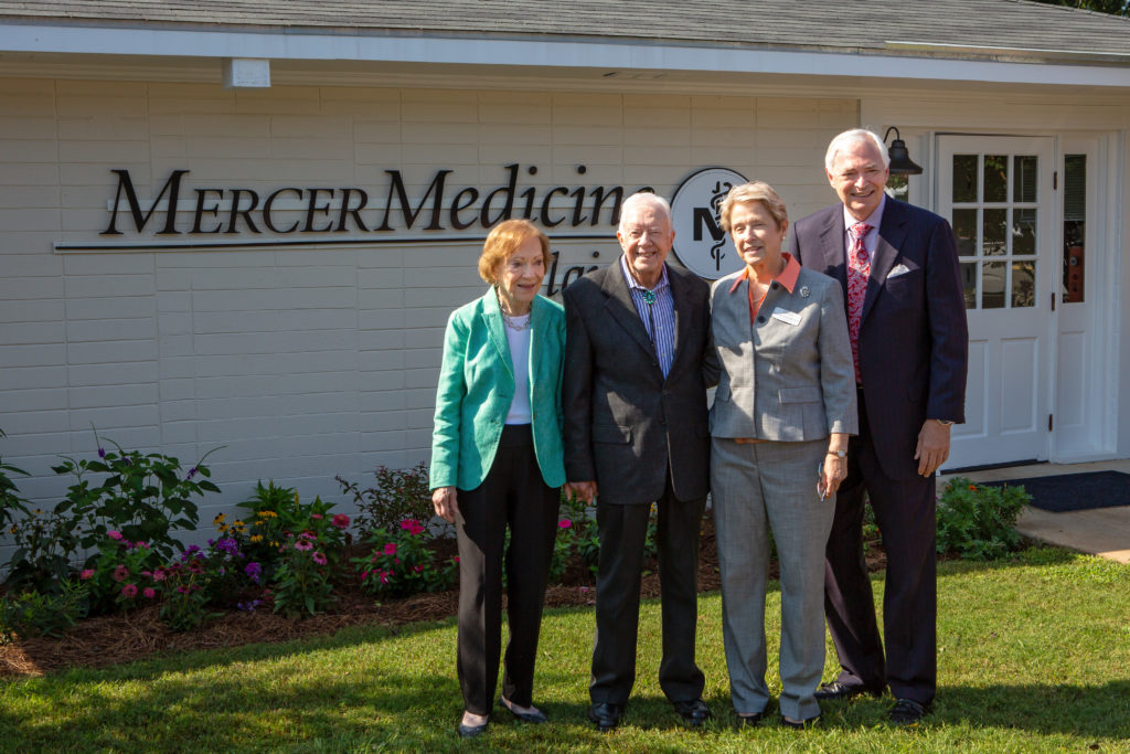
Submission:
MULTIPOLYGON (((659 685, 672 702, 702 696, 706 683, 695 664, 698 622, 698 538, 704 497, 679 501, 667 475, 657 545, 662 599, 663 659, 659 685)), ((635 683, 640 579, 650 505, 598 499, 600 560, 597 571, 597 638, 589 695, 594 703, 626 704, 635 683)))

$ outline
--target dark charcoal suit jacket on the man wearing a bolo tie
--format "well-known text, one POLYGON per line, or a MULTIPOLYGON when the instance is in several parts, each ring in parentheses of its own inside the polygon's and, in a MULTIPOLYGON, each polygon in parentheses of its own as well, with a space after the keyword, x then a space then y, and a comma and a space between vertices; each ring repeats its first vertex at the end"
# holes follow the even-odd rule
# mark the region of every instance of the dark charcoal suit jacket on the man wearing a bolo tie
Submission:
POLYGON ((675 357, 667 379, 640 320, 619 261, 571 284, 565 301, 565 474, 596 479, 611 503, 663 495, 670 461, 678 500, 710 491, 706 381, 718 367, 710 345, 710 289, 667 267, 675 300, 675 357))

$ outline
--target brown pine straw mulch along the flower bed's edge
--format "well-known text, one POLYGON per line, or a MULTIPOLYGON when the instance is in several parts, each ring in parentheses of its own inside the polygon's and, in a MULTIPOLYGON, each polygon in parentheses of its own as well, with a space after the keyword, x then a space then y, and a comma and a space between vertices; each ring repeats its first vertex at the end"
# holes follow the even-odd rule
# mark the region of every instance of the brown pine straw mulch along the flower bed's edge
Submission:
MULTIPOLYGON (((868 566, 872 571, 886 565, 877 543, 869 543, 868 566)), ((776 578, 776 564, 771 577, 776 578)), ((660 595, 655 563, 643 578, 641 596, 660 595)), ((560 584, 546 591, 546 607, 584 607, 594 604, 596 589, 588 569, 576 564, 566 572, 560 584)), ((718 591, 718 546, 713 521, 704 521, 698 565, 698 590, 718 591)), ((332 634, 349 626, 398 626, 421 621, 442 621, 455 614, 457 590, 414 595, 405 599, 374 603, 356 583, 340 584, 337 605, 323 615, 304 619, 286 618, 259 609, 254 613, 231 610, 194 631, 177 633, 159 619, 157 606, 128 614, 103 615, 82 621, 61 639, 25 639, 0 645, 0 675, 40 676, 69 667, 105 667, 145 659, 153 655, 200 649, 240 647, 251 643, 285 642, 332 634)))

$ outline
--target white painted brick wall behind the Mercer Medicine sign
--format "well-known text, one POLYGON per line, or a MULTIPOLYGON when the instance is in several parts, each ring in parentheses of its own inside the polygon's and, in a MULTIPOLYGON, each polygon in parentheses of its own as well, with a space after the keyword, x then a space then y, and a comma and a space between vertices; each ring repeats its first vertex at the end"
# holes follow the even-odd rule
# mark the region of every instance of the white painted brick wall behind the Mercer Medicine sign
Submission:
MULTIPOLYGON (((468 185, 485 194, 518 162, 519 191, 537 187, 540 203, 553 185, 650 184, 669 197, 690 172, 722 165, 776 184, 799 217, 831 199, 824 146, 858 110, 853 99, 0 80, 0 453, 32 473, 21 489, 50 503, 67 483, 50 466, 95 452, 92 423, 185 466, 225 445, 209 458, 224 493, 205 523, 257 479, 338 500, 336 474, 367 482, 379 463, 428 456, 443 326, 484 287, 477 246, 56 253, 55 242, 99 240, 113 168, 130 171, 144 200, 188 168, 182 202, 192 188, 324 185, 365 188, 372 208, 385 170, 402 172, 415 202, 441 167, 455 171, 450 200, 468 185)), ((598 231, 611 235, 607 214, 598 231)), ((380 215, 370 210, 371 227, 380 215)), ((205 220, 227 227, 224 213, 205 220)), ((131 223, 120 215, 120 227, 131 223)), ((615 243, 601 249, 612 259, 615 243)))

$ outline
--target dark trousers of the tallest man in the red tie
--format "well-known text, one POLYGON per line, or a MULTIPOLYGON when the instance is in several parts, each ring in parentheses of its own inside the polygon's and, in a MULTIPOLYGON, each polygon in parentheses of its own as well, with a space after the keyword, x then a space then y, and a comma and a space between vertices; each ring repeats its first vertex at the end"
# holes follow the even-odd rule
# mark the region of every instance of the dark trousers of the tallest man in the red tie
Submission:
POLYGON ((859 399, 859 436, 849 445, 847 478, 836 493, 825 560, 825 615, 842 666, 838 681, 872 688, 889 685, 896 699, 929 704, 938 683, 935 477, 892 479, 883 473, 862 391, 859 399), (885 656, 863 561, 868 496, 887 553, 885 656))

